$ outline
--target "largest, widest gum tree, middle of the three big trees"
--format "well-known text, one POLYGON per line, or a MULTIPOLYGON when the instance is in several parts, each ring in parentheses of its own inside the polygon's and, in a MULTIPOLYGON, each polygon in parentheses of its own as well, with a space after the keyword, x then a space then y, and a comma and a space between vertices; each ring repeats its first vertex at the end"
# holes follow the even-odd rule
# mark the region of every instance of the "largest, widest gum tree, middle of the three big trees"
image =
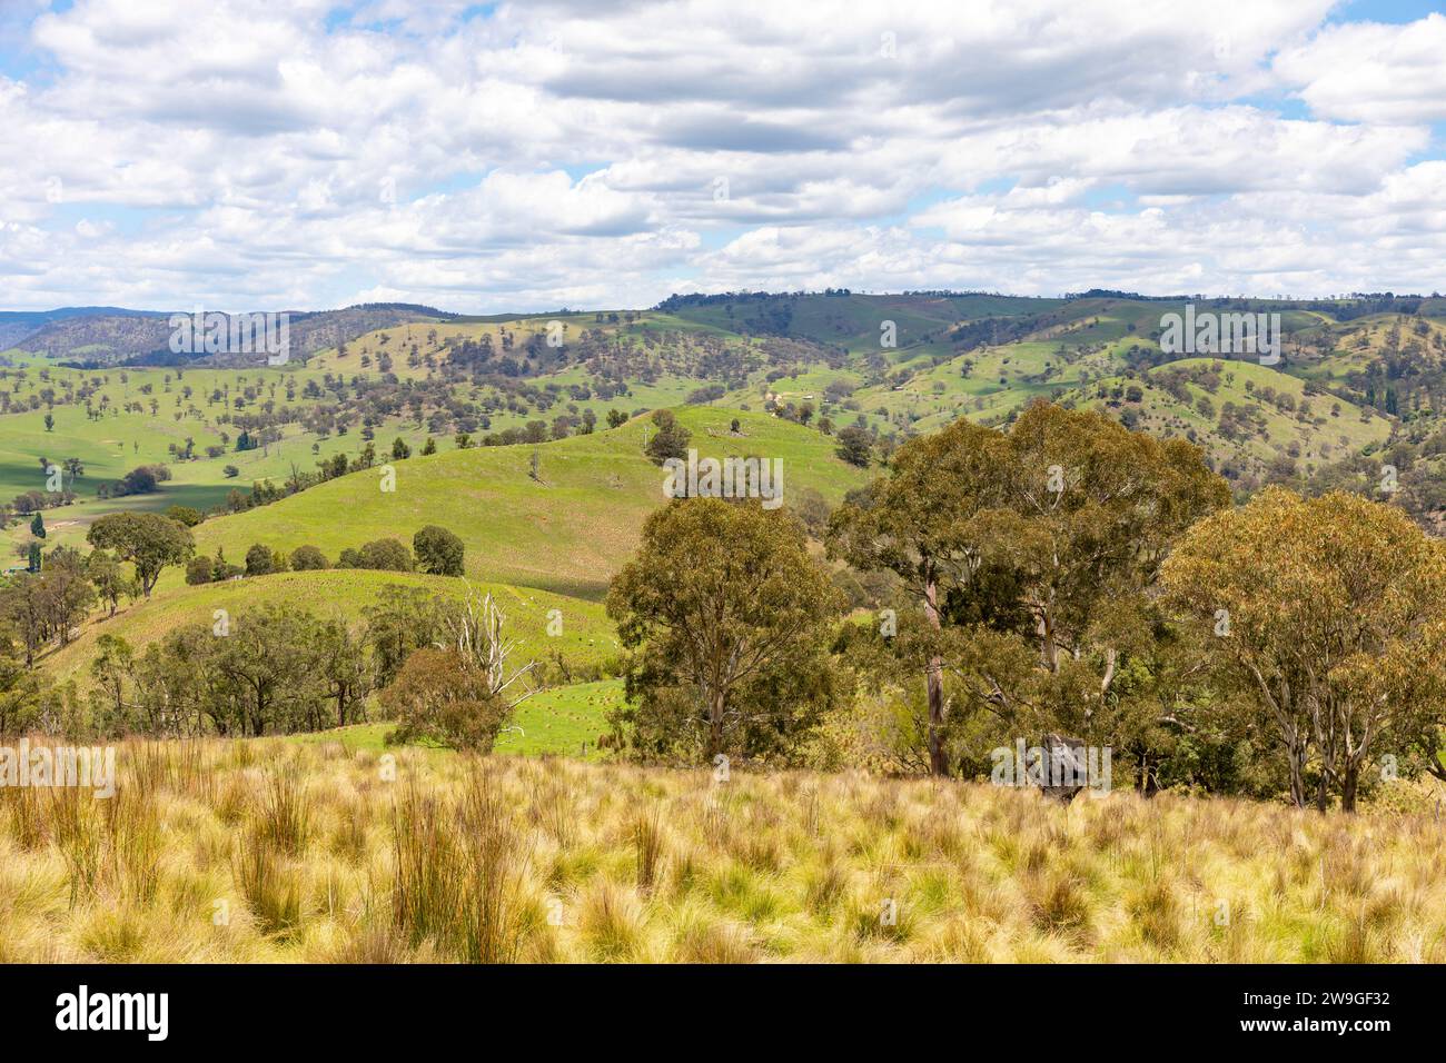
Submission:
POLYGON ((898 651, 923 665, 930 767, 949 774, 946 668, 1001 714, 1047 700, 1054 725, 1096 729, 1121 654, 1154 639, 1151 589, 1171 539, 1228 502, 1184 440, 1037 402, 1008 434, 956 421, 904 444, 833 515, 829 545, 892 571, 923 607, 925 631, 898 651), (1037 674, 1018 667, 1031 639, 1037 674), (1011 697, 1024 683, 1030 697, 1011 697))

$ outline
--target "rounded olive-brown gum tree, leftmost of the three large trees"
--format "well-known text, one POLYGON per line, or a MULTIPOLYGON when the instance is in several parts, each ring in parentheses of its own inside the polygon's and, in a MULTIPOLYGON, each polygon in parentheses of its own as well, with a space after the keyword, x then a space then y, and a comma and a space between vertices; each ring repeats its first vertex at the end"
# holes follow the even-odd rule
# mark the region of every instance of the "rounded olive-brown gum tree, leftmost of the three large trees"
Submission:
POLYGON ((633 651, 639 740, 709 758, 795 743, 831 704, 827 642, 839 610, 787 511, 691 498, 654 512, 607 594, 633 651))

